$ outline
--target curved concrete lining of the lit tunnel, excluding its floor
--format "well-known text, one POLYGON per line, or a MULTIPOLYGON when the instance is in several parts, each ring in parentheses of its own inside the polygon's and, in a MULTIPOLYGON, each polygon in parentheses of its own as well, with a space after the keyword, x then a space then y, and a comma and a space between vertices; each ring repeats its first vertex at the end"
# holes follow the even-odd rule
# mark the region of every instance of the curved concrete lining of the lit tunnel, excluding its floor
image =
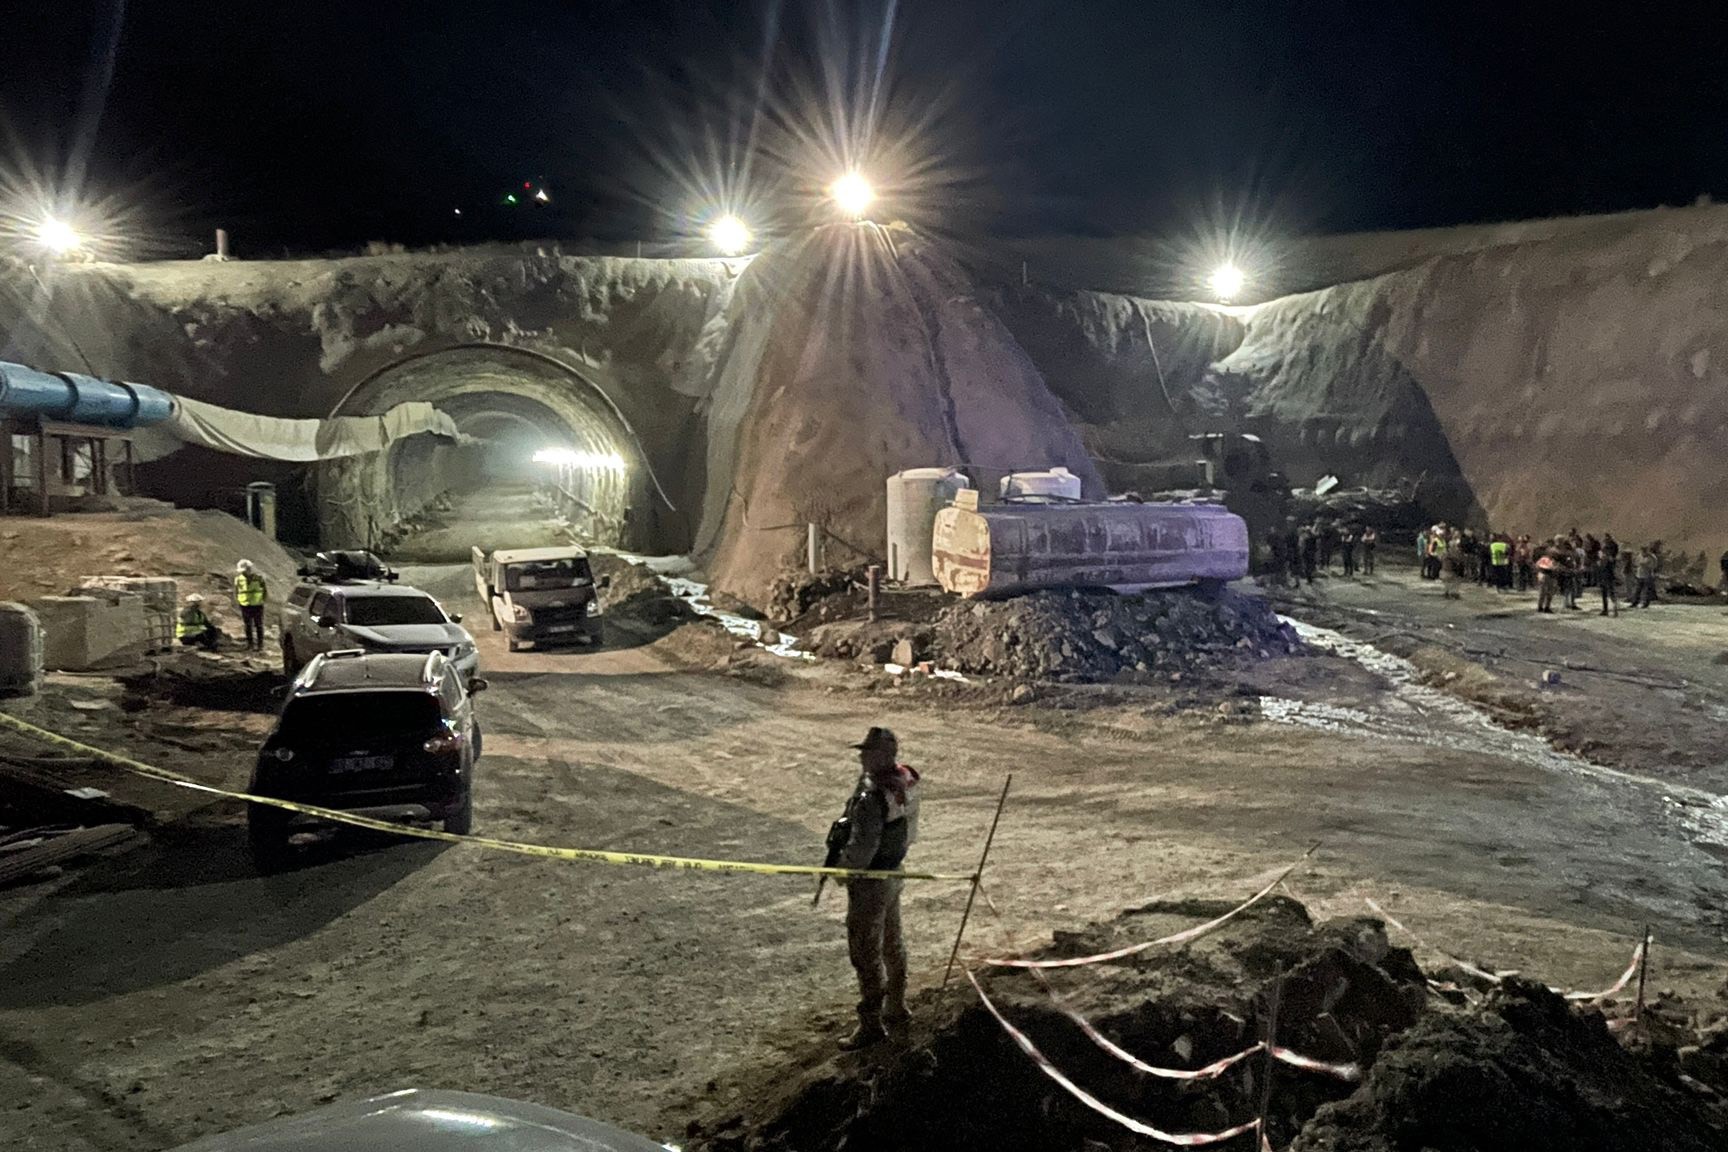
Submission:
MULTIPOLYGON (((320 529, 327 546, 375 542, 441 492, 508 482, 560 480, 565 513, 593 544, 667 546, 657 504, 670 506, 629 421, 588 377, 550 356, 505 345, 458 345, 399 359, 354 385, 332 415, 378 415, 406 401, 432 402, 480 440, 415 437, 385 459, 320 468, 320 529), (534 437, 539 442, 534 444, 534 437), (563 468, 534 465, 534 447, 565 447, 563 468), (499 466, 498 453, 520 454, 499 466)), ((670 544, 676 544, 670 542, 670 544)))

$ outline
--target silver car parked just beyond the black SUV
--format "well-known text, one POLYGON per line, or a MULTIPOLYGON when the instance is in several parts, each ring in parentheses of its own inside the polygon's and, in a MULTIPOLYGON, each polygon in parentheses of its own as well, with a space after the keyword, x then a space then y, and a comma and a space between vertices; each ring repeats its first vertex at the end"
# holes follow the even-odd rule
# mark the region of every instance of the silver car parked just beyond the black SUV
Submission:
POLYGON ((359 648, 375 653, 444 653, 465 680, 480 667, 460 615, 446 615, 416 587, 377 580, 294 585, 282 606, 282 668, 295 675, 320 653, 359 648))

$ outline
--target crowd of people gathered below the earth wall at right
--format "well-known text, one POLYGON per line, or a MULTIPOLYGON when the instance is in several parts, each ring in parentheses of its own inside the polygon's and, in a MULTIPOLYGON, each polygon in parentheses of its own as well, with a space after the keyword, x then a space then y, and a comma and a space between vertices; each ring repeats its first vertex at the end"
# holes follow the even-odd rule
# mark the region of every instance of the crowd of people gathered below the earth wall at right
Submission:
MULTIPOLYGON (((1374 575, 1381 534, 1372 525, 1317 518, 1287 520, 1267 532, 1268 577, 1277 584, 1313 584, 1341 563, 1343 575, 1374 575)), ((1602 615, 1619 615, 1621 592, 1631 608, 1655 603, 1655 577, 1662 570, 1662 542, 1623 548, 1612 532, 1602 537, 1578 529, 1552 539, 1481 532, 1450 523, 1422 529, 1415 537, 1424 580, 1439 580, 1441 594, 1458 598, 1465 582, 1503 592, 1536 591, 1536 611, 1579 608, 1588 591, 1602 596, 1602 615)), ((1723 553, 1728 587, 1728 553, 1723 553)))

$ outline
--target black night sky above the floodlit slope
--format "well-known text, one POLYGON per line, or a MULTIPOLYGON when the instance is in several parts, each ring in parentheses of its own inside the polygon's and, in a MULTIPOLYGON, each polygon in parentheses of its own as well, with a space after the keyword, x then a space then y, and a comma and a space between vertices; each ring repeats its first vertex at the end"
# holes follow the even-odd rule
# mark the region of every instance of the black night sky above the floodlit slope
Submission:
POLYGON ((218 223, 254 256, 664 244, 719 199, 772 230, 810 211, 842 138, 892 169, 871 174, 909 218, 956 233, 1348 231, 1728 197, 1721 3, 7 7, 0 168, 138 206, 152 254, 199 250, 218 223), (503 204, 524 181, 553 202, 503 204))

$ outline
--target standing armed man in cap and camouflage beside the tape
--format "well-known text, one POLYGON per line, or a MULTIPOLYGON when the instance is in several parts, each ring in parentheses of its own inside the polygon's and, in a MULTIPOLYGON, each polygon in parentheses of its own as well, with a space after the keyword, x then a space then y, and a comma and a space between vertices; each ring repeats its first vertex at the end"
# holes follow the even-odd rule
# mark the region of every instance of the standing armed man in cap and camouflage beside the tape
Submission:
MULTIPOLYGON (((918 839, 918 772, 899 762, 900 744, 888 729, 873 727, 859 750, 862 774, 847 801, 843 869, 897 872, 918 839)), ((859 976, 859 1026, 840 1047, 852 1052, 904 1029, 905 940, 900 934, 899 879, 848 879, 847 952, 859 976)))

